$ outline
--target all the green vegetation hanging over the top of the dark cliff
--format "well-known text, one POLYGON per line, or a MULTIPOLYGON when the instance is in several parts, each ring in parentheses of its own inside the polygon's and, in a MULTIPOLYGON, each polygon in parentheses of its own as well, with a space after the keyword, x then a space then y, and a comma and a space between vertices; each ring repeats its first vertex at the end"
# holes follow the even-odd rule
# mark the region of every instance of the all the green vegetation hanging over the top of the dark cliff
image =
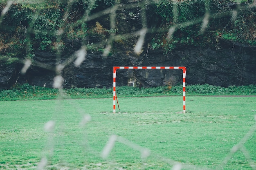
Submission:
MULTIPOLYGON (((6 3, 7 0, 1 1, 0 9, 4 9, 6 3)), ((123 30, 121 24, 110 28, 108 21, 104 23, 105 28, 102 23, 95 26, 97 21, 87 21, 88 16, 99 14, 118 3, 128 5, 126 1, 116 0, 15 1, 0 18, 0 62, 10 64, 25 57, 32 59, 34 51, 38 50, 61 53, 70 48, 70 41, 81 41, 90 49, 92 43, 108 39, 108 35, 113 33, 128 42, 128 32, 119 31, 123 30), (95 35, 98 40, 90 40, 95 35)), ((168 53, 178 44, 215 46, 219 38, 255 46, 256 6, 253 0, 135 3, 141 11, 144 7, 147 9, 148 27, 153 30, 146 44, 153 50, 163 49, 168 53), (208 14, 209 23, 202 28, 208 14), (173 33, 168 31, 170 28, 173 28, 173 33)), ((129 6, 128 9, 129 17, 136 17, 134 11, 137 9, 129 6)), ((99 15, 98 20, 109 20, 104 18, 108 16, 101 17, 99 15)), ((95 48, 104 49, 104 44, 99 43, 95 48)))

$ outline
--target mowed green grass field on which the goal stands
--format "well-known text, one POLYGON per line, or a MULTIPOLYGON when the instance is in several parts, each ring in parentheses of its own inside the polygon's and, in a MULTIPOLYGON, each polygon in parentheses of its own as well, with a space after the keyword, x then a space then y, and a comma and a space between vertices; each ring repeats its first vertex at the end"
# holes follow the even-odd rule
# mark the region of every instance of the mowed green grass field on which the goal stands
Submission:
POLYGON ((0 169, 256 168, 256 97, 118 97, 0 102, 0 169))

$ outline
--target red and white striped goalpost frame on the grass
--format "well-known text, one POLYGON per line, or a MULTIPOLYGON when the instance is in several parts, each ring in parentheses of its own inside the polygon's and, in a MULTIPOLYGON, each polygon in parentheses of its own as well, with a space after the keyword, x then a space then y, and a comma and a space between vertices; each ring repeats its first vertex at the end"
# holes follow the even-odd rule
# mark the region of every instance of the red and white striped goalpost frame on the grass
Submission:
POLYGON ((184 66, 114 66, 113 67, 113 113, 116 113, 117 69, 182 69, 183 70, 183 113, 186 113, 186 67, 184 66))

